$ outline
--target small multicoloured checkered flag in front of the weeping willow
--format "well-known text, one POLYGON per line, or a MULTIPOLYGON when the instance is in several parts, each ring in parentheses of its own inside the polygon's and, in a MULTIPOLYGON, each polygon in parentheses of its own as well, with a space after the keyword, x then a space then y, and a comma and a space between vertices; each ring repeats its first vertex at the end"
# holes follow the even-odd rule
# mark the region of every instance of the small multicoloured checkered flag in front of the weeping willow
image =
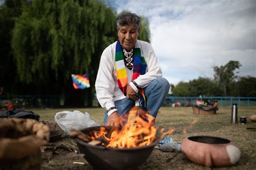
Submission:
POLYGON ((75 89, 85 89, 90 87, 89 77, 87 74, 78 75, 78 74, 71 74, 73 87, 75 89))

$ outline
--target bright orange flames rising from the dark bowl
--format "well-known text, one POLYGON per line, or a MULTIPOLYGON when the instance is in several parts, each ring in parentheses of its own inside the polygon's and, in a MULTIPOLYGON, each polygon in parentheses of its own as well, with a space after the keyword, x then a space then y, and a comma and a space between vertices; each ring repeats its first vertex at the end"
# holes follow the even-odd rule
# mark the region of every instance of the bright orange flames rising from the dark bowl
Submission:
POLYGON ((94 133, 92 140, 104 138, 107 140, 106 147, 132 148, 150 145, 156 140, 157 128, 153 126, 154 117, 133 108, 127 119, 127 123, 122 129, 114 130, 111 136, 107 137, 105 128, 101 128, 98 133, 94 133))

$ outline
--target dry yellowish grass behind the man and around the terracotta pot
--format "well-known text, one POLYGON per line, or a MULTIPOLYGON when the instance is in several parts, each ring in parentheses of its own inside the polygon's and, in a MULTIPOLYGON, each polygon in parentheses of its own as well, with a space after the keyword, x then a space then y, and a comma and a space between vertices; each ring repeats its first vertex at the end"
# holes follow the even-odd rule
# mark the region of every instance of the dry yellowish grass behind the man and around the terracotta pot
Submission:
MULTIPOLYGON (((88 112, 93 121, 103 125, 104 109, 102 108, 33 109, 32 111, 39 114, 41 120, 53 121, 55 114, 64 110, 88 112)), ((215 115, 196 115, 193 114, 191 107, 163 107, 159 110, 156 126, 159 129, 175 129, 172 134, 166 137, 172 137, 178 142, 188 136, 197 135, 230 139, 240 149, 241 158, 237 164, 228 167, 228 169, 256 169, 256 132, 246 130, 249 127, 256 128, 256 123, 249 120, 251 115, 256 115, 256 107, 238 108, 238 117, 247 116, 247 123, 242 125, 241 123, 231 124, 231 107, 220 107, 215 115), (194 120, 197 122, 190 126, 194 120), (186 129, 185 134, 183 133, 184 129, 186 129)), ((150 169, 207 169, 205 166, 193 164, 184 158, 176 158, 174 162, 164 164, 166 165, 150 169)), ((139 167, 139 169, 148 168, 144 166, 139 167)))

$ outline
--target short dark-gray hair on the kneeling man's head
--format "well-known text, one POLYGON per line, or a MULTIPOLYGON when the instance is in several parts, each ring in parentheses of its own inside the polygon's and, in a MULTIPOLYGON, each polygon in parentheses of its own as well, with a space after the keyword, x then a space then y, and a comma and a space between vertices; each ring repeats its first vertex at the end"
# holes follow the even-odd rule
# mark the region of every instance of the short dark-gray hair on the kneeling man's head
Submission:
POLYGON ((131 12, 122 12, 117 17, 117 30, 120 29, 120 26, 135 24, 137 30, 139 30, 140 26, 140 17, 138 17, 135 13, 131 12))

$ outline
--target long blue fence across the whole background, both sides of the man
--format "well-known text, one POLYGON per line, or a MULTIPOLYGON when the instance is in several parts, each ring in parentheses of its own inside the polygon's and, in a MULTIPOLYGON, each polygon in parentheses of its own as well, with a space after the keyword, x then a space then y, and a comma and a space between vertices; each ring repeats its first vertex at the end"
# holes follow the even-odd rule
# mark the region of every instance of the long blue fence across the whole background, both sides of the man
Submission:
MULTIPOLYGON (((3 96, 0 95, 0 108, 6 108, 10 103, 14 104, 15 107, 59 107, 64 106, 64 101, 68 96, 58 96, 58 95, 41 95, 41 96, 31 96, 31 95, 12 95, 3 96)), ((93 107, 99 107, 96 95, 93 95, 93 107)), ((178 97, 178 96, 167 96, 164 101, 164 106, 171 107, 173 103, 179 102, 181 106, 186 103, 196 103, 199 97, 178 97)), ((256 106, 256 97, 204 97, 206 100, 217 100, 220 106, 232 105, 232 103, 237 103, 238 106, 256 106)))

